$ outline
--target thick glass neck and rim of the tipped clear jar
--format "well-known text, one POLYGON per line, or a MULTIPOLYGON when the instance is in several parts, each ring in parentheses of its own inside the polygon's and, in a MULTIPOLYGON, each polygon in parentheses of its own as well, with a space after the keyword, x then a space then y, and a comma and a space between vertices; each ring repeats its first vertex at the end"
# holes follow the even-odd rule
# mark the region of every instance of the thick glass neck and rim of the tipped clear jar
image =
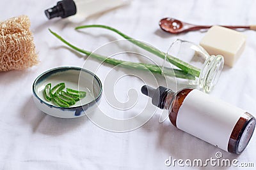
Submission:
POLYGON ((211 55, 205 62, 199 76, 199 86, 204 92, 211 92, 218 83, 223 69, 224 59, 221 55, 211 55))

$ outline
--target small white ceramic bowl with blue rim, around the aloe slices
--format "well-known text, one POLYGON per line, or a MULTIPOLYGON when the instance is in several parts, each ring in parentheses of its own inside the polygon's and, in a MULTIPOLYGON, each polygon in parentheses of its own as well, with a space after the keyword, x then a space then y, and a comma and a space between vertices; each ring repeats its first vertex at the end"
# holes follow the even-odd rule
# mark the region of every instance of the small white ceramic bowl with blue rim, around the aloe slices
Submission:
POLYGON ((33 83, 33 100, 36 107, 60 118, 81 117, 90 113, 96 106, 102 94, 102 83, 92 72, 79 67, 57 67, 42 73, 33 83), (47 83, 54 85, 64 82, 70 89, 86 91, 86 97, 77 101, 69 108, 57 106, 52 101, 45 100, 44 88, 47 83))

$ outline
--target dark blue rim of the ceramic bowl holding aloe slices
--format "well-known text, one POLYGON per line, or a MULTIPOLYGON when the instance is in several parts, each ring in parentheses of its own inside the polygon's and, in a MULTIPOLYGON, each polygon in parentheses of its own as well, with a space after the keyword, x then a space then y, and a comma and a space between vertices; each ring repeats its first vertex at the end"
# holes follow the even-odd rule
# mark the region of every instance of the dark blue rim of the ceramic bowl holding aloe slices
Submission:
MULTIPOLYGON (((80 73, 79 73, 79 75, 80 75, 80 73)), ((32 86, 32 89, 33 89, 33 94, 34 94, 34 96, 40 101, 40 103, 44 103, 44 104, 46 104, 47 106, 49 106, 49 107, 51 107, 51 108, 58 108, 58 109, 61 109, 61 110, 76 110, 77 108, 81 108, 81 107, 83 107, 83 106, 90 105, 90 104, 95 103, 95 102, 97 102, 97 101, 99 100, 99 98, 100 98, 100 96, 101 96, 101 94, 102 94, 102 83, 101 83, 99 77, 96 76, 96 74, 92 73, 92 71, 89 71, 89 70, 84 69, 84 68, 81 68, 81 67, 63 66, 63 67, 54 67, 54 68, 52 68, 52 69, 49 69, 49 70, 45 71, 44 73, 41 73, 41 74, 35 79, 35 81, 34 81, 34 83, 33 83, 33 86, 32 86), (76 107, 64 108, 64 107, 55 106, 55 105, 53 105, 53 104, 46 103, 46 102, 45 102, 44 100, 42 100, 39 96, 37 96, 37 94, 36 94, 36 92, 35 92, 36 82, 37 82, 40 78, 42 78, 42 76, 44 76, 45 74, 51 73, 52 71, 56 71, 56 70, 58 70, 58 69, 60 69, 60 70, 61 70, 61 69, 75 69, 75 70, 79 70, 80 72, 81 72, 81 71, 84 71, 84 72, 86 72, 86 73, 91 74, 91 75, 93 76, 93 78, 95 78, 95 79, 97 80, 97 82, 99 83, 100 91, 99 91, 98 96, 95 97, 95 98, 93 99, 93 101, 91 101, 90 103, 86 103, 86 104, 83 104, 83 105, 80 105, 80 106, 76 106, 76 107)))

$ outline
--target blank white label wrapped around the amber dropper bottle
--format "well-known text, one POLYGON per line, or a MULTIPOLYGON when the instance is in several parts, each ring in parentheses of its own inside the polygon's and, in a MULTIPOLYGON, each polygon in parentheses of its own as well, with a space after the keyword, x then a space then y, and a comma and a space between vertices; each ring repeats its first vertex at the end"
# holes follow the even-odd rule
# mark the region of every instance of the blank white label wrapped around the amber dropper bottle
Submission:
POLYGON ((177 127, 228 151, 230 135, 246 112, 220 99, 192 90, 184 99, 177 115, 177 127))

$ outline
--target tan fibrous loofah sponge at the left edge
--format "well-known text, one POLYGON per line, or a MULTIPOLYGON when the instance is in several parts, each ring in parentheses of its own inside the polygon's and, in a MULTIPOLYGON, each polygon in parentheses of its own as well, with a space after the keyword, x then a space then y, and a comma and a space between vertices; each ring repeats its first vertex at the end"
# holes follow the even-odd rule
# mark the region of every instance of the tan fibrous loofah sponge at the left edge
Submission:
POLYGON ((0 71, 27 69, 38 63, 29 27, 25 15, 0 22, 0 71))

